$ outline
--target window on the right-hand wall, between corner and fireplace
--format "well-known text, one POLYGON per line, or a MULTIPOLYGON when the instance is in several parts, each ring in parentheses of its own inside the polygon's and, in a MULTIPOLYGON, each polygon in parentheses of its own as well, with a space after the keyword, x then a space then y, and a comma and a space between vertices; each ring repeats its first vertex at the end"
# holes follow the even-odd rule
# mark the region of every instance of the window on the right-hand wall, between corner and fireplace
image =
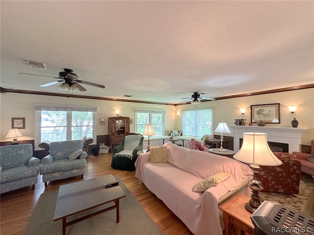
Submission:
POLYGON ((212 109, 183 111, 183 133, 186 136, 203 137, 213 134, 212 109))

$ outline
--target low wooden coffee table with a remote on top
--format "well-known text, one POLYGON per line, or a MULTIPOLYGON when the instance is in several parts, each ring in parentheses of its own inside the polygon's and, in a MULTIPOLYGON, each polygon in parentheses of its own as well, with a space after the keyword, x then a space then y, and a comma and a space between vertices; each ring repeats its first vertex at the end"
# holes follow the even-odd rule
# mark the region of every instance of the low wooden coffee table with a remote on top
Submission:
POLYGON ((116 222, 119 223, 119 199, 125 197, 126 194, 120 186, 104 187, 106 183, 113 181, 116 179, 112 175, 105 175, 60 186, 53 221, 62 219, 62 235, 66 234, 67 226, 113 209, 117 210, 116 222), (114 202, 115 205, 67 222, 68 216, 109 202, 114 202))

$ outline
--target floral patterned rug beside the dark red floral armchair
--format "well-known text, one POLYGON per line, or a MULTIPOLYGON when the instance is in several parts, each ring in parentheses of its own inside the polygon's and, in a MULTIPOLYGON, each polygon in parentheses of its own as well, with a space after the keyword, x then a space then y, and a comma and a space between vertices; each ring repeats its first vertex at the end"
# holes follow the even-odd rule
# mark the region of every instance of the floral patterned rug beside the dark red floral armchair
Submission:
POLYGON ((314 181, 301 178, 299 194, 276 192, 260 192, 261 202, 264 200, 279 202, 282 205, 314 217, 314 181))

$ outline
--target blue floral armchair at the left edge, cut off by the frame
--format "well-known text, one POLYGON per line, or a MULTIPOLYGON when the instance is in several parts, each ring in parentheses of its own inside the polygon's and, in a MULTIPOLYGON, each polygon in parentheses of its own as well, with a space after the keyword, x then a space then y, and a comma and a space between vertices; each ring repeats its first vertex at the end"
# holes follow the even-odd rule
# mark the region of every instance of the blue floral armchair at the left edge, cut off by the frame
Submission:
POLYGON ((32 155, 30 143, 0 147, 0 193, 27 186, 35 189, 40 160, 32 155))

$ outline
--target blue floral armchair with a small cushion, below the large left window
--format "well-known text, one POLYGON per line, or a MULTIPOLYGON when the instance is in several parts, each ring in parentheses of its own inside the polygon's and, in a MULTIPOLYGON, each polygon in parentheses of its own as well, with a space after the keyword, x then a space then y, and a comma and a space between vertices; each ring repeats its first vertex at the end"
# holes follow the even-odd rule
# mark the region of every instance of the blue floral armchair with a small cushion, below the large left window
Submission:
POLYGON ((85 173, 87 153, 82 150, 82 141, 51 142, 50 154, 41 160, 39 172, 47 187, 48 181, 65 179, 85 173))

